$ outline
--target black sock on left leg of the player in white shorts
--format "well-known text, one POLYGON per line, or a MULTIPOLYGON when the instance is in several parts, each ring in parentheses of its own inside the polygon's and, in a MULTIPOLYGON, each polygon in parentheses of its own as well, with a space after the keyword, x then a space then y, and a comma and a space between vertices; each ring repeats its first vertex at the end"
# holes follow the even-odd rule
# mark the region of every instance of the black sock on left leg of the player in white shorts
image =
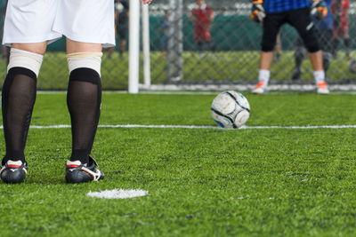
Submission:
POLYGON ((2 92, 2 110, 8 160, 25 162, 25 145, 36 100, 36 74, 24 67, 12 67, 2 92))

